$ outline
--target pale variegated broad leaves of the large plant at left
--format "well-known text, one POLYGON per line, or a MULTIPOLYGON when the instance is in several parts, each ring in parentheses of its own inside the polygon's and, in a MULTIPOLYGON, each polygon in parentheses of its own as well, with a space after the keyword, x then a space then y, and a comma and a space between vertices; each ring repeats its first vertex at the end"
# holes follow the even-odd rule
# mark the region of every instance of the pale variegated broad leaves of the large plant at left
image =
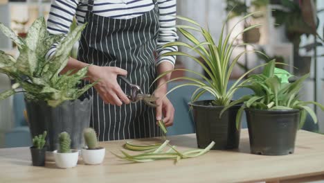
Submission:
POLYGON ((75 73, 69 71, 60 75, 84 27, 85 25, 78 26, 66 36, 51 35, 46 30, 45 19, 40 17, 30 26, 27 37, 23 39, 0 23, 0 30, 17 44, 19 50, 17 60, 0 51, 0 72, 16 82, 12 85, 12 89, 0 94, 0 100, 15 94, 17 87, 21 86, 28 98, 46 101, 48 105, 55 107, 63 101, 75 100, 92 87, 95 83, 81 89, 77 87, 82 78, 86 76, 87 67, 75 73), (58 43, 56 52, 46 60, 46 53, 55 42, 58 43))

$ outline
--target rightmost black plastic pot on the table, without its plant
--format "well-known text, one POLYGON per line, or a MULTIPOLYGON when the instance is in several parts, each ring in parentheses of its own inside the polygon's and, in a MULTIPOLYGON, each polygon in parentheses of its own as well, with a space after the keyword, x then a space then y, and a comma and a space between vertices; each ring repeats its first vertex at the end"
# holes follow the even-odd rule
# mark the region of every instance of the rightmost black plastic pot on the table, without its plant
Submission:
POLYGON ((299 110, 246 109, 245 112, 252 154, 294 153, 299 110))

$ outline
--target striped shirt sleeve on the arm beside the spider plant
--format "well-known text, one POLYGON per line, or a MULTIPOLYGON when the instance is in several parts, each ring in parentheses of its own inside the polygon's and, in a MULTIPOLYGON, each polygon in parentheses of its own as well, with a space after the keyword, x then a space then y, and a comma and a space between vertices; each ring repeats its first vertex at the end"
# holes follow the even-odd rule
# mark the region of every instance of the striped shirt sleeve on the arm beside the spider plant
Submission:
POLYGON ((163 53, 168 53, 171 51, 178 51, 177 46, 169 46, 163 48, 168 42, 174 42, 178 40, 177 28, 176 28, 176 18, 177 15, 177 0, 159 0, 159 37, 157 41, 158 59, 156 65, 161 64, 161 62, 170 62, 175 64, 176 56, 161 56, 163 53))

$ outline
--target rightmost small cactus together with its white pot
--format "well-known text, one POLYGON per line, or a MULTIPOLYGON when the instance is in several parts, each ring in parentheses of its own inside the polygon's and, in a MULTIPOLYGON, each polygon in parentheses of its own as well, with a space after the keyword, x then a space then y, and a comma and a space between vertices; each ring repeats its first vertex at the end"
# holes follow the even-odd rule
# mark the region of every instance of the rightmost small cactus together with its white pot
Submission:
POLYGON ((82 148, 81 155, 84 164, 101 164, 105 158, 105 148, 97 145, 97 135, 93 128, 83 130, 84 141, 87 148, 82 148))

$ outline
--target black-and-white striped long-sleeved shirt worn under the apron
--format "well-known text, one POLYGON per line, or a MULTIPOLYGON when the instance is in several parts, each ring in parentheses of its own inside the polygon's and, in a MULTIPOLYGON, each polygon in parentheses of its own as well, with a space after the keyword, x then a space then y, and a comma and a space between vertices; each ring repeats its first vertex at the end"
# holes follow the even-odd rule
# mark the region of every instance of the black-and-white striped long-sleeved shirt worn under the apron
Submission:
MULTIPOLYGON (((47 29, 51 34, 68 33, 73 17, 76 17, 78 24, 84 24, 84 17, 87 14, 87 0, 52 0, 51 11, 47 21, 47 29)), ((156 52, 158 58, 156 65, 161 62, 175 63, 175 56, 161 56, 163 53, 177 51, 177 46, 163 48, 168 42, 178 39, 176 30, 177 0, 158 0, 159 6, 159 29, 158 44, 156 52)), ((116 19, 130 19, 141 16, 154 8, 152 0, 96 0, 93 5, 93 13, 103 17, 116 19)), ((46 58, 55 54, 57 44, 53 44, 48 51, 46 58)))

